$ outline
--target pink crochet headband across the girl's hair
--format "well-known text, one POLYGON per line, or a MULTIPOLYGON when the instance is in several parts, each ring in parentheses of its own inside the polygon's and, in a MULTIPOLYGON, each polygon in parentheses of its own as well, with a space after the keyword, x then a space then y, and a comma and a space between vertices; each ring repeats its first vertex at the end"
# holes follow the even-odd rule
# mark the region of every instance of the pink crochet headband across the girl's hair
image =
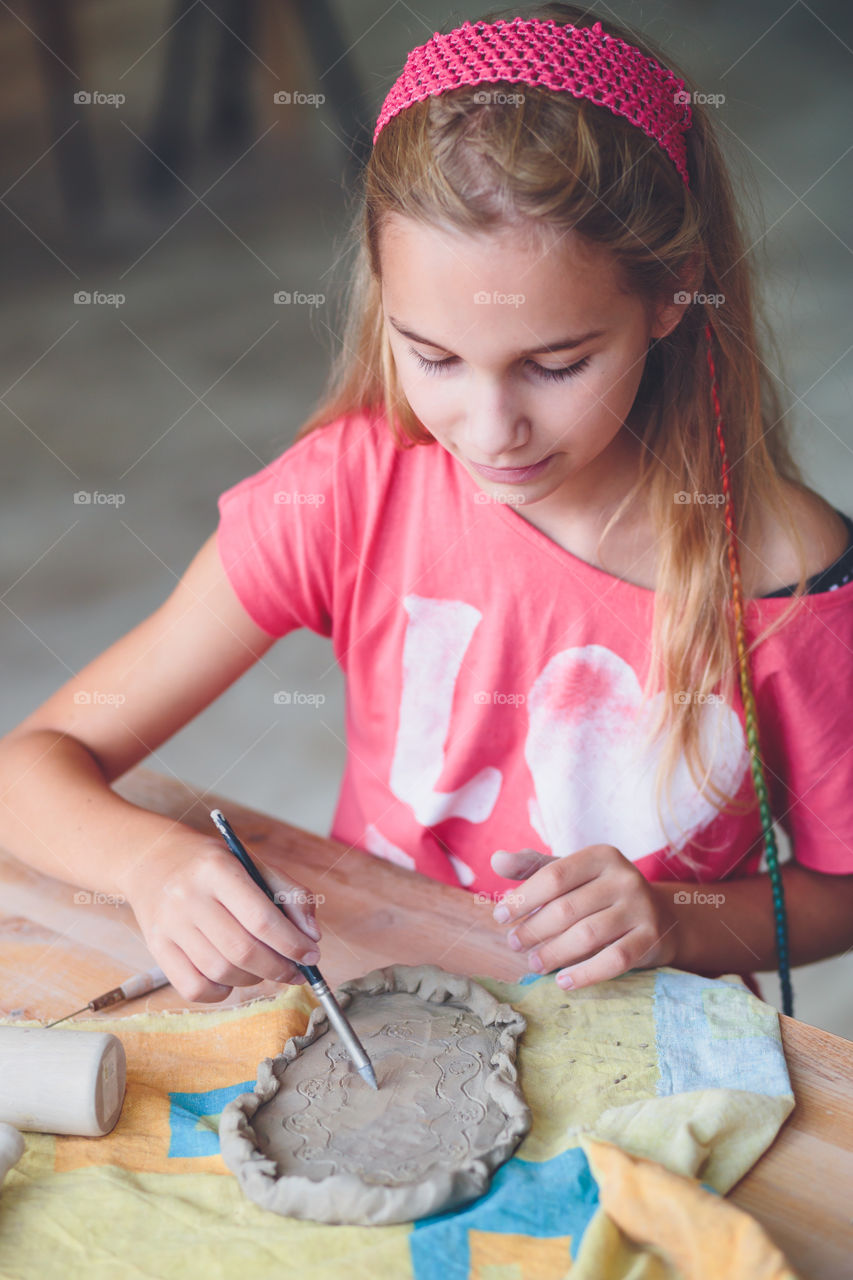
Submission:
POLYGON ((562 90, 622 115, 666 151, 690 184, 684 133, 690 128, 684 81, 633 45, 594 27, 571 27, 538 18, 465 22, 412 49, 386 97, 373 134, 412 102, 462 84, 500 81, 562 90))

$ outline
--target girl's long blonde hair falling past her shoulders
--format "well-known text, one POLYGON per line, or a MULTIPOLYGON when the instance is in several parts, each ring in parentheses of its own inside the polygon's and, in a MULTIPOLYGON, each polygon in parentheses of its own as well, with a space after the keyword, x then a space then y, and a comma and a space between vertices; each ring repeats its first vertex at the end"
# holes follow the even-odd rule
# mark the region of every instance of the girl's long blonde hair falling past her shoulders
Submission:
MULTIPOLYGON (((512 17, 552 18, 578 27, 599 20, 607 33, 681 77, 695 101, 689 77, 671 59, 589 9, 546 4, 480 20, 512 17)), ((517 84, 505 87, 519 90, 517 84)), ((483 105, 475 100, 475 88, 452 90, 412 104, 384 127, 366 165, 351 229, 356 262, 342 348, 321 403, 297 439, 342 415, 366 411, 384 415, 401 448, 435 443, 400 390, 384 326, 379 233, 391 214, 471 234, 506 225, 573 229, 608 248, 625 288, 648 305, 671 302, 683 287, 722 294, 719 307, 702 301, 685 307, 676 328, 649 348, 625 424, 646 448, 637 481, 607 521, 598 545, 642 494, 660 550, 643 704, 658 689, 663 691, 649 730, 649 740, 666 730, 654 782, 662 829, 667 827, 661 799, 665 791, 671 795, 681 759, 715 806, 744 813, 754 808, 754 795, 735 801, 711 777, 715 756, 704 765, 701 751, 703 695, 716 691, 733 705, 738 676, 722 507, 675 500, 679 492, 721 493, 706 323, 713 330, 722 425, 734 471, 735 527, 745 529, 748 515, 760 508, 790 515, 784 481, 811 490, 792 457, 784 424, 788 410, 761 355, 753 265, 722 154, 707 110, 693 105, 688 189, 662 148, 630 122, 570 93, 523 87, 520 105, 483 105), (689 691, 686 700, 678 696, 683 691, 689 691)), ((806 557, 793 518, 792 527, 799 556, 797 595, 753 640, 751 652, 790 617, 804 588, 806 557)), ((702 846, 697 842, 697 847, 702 846)), ((699 865, 685 851, 680 856, 699 865)))

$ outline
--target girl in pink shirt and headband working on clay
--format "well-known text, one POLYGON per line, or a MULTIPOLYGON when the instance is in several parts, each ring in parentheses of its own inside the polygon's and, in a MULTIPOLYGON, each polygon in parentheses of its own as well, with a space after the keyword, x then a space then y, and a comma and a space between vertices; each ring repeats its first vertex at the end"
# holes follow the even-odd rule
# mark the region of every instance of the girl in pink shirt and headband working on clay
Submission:
POLYGON ((347 675, 332 835, 500 896, 530 970, 777 961, 790 1010, 853 943, 853 522, 789 453, 693 99, 564 4, 414 50, 323 404, 4 740, 4 842, 124 893, 186 998, 296 980, 319 931, 110 783, 300 626, 347 675))

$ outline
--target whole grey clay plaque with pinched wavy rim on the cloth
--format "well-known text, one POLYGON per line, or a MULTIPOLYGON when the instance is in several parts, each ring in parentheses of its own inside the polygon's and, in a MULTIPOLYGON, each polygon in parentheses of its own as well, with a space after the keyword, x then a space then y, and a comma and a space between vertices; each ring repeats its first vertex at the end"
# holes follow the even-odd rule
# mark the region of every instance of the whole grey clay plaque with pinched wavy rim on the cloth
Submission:
POLYGON ((412 1221, 482 1196, 530 1128, 515 1066, 524 1018, 435 965, 377 969, 336 996, 379 1089, 316 1009, 222 1114, 222 1155, 246 1196, 350 1224, 412 1221))

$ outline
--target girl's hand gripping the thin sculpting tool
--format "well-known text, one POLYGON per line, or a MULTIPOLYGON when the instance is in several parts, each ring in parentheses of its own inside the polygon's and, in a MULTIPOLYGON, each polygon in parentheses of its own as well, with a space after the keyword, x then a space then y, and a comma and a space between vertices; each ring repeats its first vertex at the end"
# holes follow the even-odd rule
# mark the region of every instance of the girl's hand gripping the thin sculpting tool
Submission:
POLYGON ((287 918, 213 837, 163 841, 124 873, 151 955, 184 1000, 224 1000, 265 978, 305 982, 292 960, 319 960, 313 895, 280 876, 265 878, 287 892, 287 918))

